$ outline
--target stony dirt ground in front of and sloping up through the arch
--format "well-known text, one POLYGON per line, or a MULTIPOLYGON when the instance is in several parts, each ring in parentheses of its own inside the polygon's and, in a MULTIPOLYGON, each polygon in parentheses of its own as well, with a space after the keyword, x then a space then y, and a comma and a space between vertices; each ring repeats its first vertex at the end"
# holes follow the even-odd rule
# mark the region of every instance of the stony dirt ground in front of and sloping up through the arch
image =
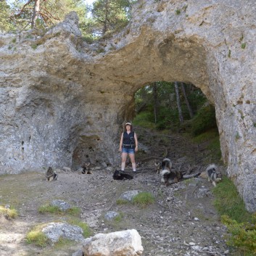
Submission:
POLYGON ((138 172, 134 174, 129 164, 126 168, 133 175, 131 181, 114 181, 111 168, 99 167, 92 174, 61 171, 52 182, 46 181, 44 173, 33 171, 0 176, 0 205, 11 205, 19 212, 15 220, 0 217, 0 255, 72 255, 81 248, 75 242, 44 248, 26 243, 25 235, 33 226, 67 220, 66 215, 38 213, 38 207, 53 199, 80 207, 80 219, 88 223, 91 235, 135 228, 141 235, 144 256, 231 255, 225 244, 226 228, 212 206, 212 184, 199 177, 164 186, 154 169, 154 160, 168 154, 173 168, 183 174, 202 172, 212 160, 207 145, 191 144, 178 134, 141 128, 136 133, 138 172), (117 205, 120 194, 131 190, 152 193, 154 204, 146 208, 117 205), (122 218, 105 220, 108 211, 119 212, 122 218))

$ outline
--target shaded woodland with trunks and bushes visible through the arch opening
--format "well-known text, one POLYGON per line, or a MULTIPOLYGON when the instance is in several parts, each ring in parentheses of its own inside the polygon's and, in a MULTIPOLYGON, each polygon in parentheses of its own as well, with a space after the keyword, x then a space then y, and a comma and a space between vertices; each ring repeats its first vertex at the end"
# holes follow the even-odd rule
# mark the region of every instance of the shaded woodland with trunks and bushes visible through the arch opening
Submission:
MULTIPOLYGON (((208 156, 208 160, 221 160, 215 106, 200 88, 191 83, 155 81, 140 88, 134 94, 134 117, 131 122, 135 129, 142 127, 160 133, 183 134, 194 141, 207 138, 214 153, 208 156)), ((139 139, 143 144, 144 136, 139 139)))

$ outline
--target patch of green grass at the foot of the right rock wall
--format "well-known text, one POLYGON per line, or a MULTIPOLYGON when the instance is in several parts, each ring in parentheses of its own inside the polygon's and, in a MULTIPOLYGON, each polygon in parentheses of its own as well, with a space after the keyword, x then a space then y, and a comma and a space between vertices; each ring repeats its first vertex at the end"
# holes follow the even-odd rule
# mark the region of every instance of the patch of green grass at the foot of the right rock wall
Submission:
POLYGON ((226 176, 213 189, 215 207, 220 215, 228 215, 231 219, 241 223, 251 220, 251 215, 245 209, 244 202, 239 196, 234 183, 226 176))

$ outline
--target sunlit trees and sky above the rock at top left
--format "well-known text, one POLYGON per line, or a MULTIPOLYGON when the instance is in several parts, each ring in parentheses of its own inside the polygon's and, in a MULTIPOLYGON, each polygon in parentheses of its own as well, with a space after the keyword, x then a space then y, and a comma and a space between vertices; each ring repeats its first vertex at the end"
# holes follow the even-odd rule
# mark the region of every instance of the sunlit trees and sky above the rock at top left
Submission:
POLYGON ((0 0, 0 31, 48 30, 71 11, 78 13, 79 27, 92 42, 125 27, 131 19, 133 0, 0 0))

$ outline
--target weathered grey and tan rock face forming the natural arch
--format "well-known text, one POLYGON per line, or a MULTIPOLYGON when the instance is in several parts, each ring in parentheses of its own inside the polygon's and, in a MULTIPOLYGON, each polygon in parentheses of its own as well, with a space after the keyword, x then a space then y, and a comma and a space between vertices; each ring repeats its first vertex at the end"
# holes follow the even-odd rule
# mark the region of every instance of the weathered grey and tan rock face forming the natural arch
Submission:
MULTIPOLYGON (((141 0, 118 35, 88 45, 75 13, 45 35, 0 36, 1 173, 119 162, 133 94, 183 81, 215 104, 223 160, 256 210, 255 1, 141 0)), ((35 34, 33 34, 35 33, 35 34)))

